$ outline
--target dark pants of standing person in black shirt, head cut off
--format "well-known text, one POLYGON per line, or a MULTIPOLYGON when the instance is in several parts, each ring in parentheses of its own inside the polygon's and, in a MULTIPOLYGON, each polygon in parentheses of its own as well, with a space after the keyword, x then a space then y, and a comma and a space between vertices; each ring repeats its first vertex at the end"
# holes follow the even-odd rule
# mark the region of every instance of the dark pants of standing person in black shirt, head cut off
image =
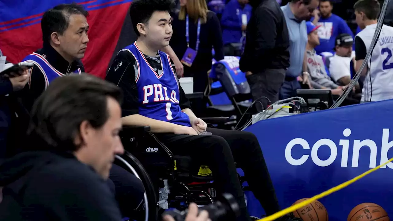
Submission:
MULTIPOLYGON (((251 88, 252 98, 266 97, 271 103, 278 101, 278 94, 285 79, 285 69, 266 69, 262 72, 253 73, 247 76, 248 84, 251 88)), ((258 112, 268 107, 268 100, 261 98, 261 103, 255 103, 258 112)))

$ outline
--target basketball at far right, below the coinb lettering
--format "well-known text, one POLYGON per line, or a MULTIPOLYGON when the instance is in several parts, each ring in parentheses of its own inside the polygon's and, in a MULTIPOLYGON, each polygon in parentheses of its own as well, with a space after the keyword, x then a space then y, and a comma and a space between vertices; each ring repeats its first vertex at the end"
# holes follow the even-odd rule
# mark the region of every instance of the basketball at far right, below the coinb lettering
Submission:
POLYGON ((351 210, 347 221, 389 221, 386 211, 375 203, 362 203, 351 210))

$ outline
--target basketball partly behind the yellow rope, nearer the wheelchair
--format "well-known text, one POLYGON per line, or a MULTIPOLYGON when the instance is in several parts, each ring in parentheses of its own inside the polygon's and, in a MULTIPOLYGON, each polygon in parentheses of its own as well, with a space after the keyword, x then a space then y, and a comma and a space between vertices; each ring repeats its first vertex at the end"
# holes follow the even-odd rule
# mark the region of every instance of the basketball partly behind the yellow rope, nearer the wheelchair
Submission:
MULTIPOLYGON (((296 201, 294 204, 301 203, 309 198, 303 198, 296 201)), ((292 205, 294 205, 292 204, 292 205)), ((313 201, 306 206, 295 210, 293 215, 303 219, 304 221, 328 221, 327 210, 320 201, 313 201)))

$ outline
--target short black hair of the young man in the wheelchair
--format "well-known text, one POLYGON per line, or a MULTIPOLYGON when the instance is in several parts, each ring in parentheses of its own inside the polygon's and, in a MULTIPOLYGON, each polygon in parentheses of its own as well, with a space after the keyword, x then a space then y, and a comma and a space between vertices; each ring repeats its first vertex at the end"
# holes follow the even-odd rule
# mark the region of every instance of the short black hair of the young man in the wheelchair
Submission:
POLYGON ((146 24, 154 11, 167 11, 168 13, 171 13, 173 8, 174 2, 172 0, 133 1, 130 6, 130 17, 136 36, 140 36, 140 33, 136 28, 138 23, 146 24))

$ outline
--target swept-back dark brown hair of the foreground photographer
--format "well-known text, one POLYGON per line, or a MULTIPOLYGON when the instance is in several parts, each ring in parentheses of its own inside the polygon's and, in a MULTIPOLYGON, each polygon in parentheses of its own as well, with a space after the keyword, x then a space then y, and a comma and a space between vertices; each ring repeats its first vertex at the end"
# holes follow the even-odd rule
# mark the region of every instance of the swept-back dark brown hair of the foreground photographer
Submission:
POLYGON ((109 118, 107 98, 119 103, 121 89, 98 77, 82 74, 58 77, 35 101, 28 127, 34 150, 72 152, 83 121, 100 128, 109 118), (42 144, 42 145, 39 145, 42 144))

